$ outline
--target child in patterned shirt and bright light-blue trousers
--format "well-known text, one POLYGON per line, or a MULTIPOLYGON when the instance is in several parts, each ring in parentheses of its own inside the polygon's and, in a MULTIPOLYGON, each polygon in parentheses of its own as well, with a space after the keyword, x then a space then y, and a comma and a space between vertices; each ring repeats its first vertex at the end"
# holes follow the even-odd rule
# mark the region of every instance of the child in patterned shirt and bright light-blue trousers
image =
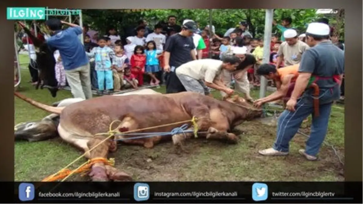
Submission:
POLYGON ((87 52, 88 57, 95 58, 95 70, 97 72, 98 94, 109 94, 113 89, 113 72, 111 70, 111 58, 114 58, 115 53, 106 46, 107 38, 101 37, 98 40, 98 47, 95 47, 91 52, 87 52), (106 82, 106 87, 105 87, 106 82))

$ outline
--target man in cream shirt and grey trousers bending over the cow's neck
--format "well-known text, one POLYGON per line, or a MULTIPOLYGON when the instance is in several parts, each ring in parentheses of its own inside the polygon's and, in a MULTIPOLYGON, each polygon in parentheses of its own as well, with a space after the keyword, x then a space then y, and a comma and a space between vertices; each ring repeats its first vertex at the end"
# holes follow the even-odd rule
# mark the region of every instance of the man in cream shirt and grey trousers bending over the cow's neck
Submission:
POLYGON ((225 86, 221 81, 221 73, 226 70, 233 72, 240 63, 240 59, 230 55, 223 57, 221 60, 201 59, 187 62, 176 69, 175 73, 185 90, 200 93, 204 95, 212 94, 208 87, 232 95, 234 91, 225 86))

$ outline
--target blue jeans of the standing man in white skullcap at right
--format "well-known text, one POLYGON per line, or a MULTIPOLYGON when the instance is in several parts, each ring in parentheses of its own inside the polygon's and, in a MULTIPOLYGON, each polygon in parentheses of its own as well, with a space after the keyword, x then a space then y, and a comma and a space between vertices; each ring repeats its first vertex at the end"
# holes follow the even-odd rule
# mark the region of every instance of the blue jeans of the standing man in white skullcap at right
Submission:
POLYGON ((305 152, 308 155, 316 156, 325 139, 328 129, 331 106, 335 94, 333 92, 323 92, 319 100, 319 117, 314 117, 313 98, 305 94, 298 99, 295 106, 295 112, 285 110, 282 112, 277 123, 277 136, 273 148, 278 151, 288 152, 289 142, 297 133, 302 121, 310 114, 313 115, 311 124, 310 137, 306 141, 305 152))

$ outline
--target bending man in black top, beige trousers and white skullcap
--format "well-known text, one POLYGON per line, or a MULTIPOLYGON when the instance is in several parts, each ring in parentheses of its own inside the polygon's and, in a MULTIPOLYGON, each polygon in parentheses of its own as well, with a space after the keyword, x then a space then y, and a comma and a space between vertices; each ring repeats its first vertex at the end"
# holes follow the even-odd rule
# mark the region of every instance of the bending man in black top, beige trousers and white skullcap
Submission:
MULTIPOLYGON (((252 102, 253 98, 250 96, 250 85, 247 76, 247 70, 249 68, 253 68, 256 64, 256 58, 252 54, 247 54, 246 46, 232 47, 231 50, 235 56, 239 57, 241 63, 238 65, 237 70, 235 72, 227 72, 223 71, 223 82, 227 87, 231 86, 232 75, 234 77, 234 89, 240 93, 245 94, 245 98, 247 101, 252 102)), ((227 94, 221 91, 222 97, 227 97, 227 94)))

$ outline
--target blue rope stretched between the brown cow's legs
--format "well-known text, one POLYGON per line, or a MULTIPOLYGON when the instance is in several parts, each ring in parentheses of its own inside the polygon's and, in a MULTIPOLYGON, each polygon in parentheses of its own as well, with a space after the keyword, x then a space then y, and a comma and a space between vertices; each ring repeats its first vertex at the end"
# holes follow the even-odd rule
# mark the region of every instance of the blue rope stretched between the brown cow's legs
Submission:
POLYGON ((131 138, 122 138, 122 139, 115 139, 115 141, 122 141, 122 140, 129 140, 129 139, 140 139, 140 138, 151 138, 155 136, 167 136, 167 135, 175 135, 180 133, 187 133, 193 132, 193 130, 187 130, 188 124, 184 124, 180 127, 176 127, 172 129, 170 132, 139 132, 139 133, 118 133, 116 135, 143 135, 143 136, 136 136, 131 138), (152 133, 152 134, 150 134, 152 133))

